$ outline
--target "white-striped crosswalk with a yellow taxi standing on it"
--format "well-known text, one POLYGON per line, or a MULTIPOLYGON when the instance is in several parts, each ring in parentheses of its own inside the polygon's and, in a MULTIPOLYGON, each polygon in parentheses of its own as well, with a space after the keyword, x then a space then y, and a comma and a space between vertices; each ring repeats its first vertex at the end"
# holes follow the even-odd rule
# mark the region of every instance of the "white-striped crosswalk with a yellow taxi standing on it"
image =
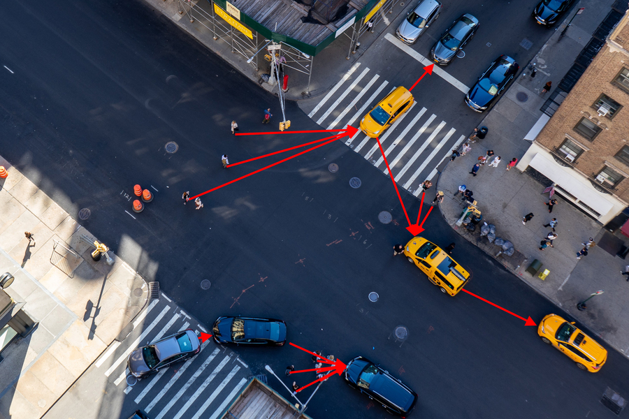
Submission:
MULTIPOLYGON (((330 130, 347 125, 358 128, 366 112, 396 87, 357 62, 321 98, 308 117, 330 130), (359 103, 362 103, 360 108, 359 103)), ((414 196, 419 196, 421 182, 433 180, 451 150, 463 143, 465 135, 416 101, 408 112, 384 131, 379 140, 393 178, 414 196)), ((359 131, 345 144, 389 175, 375 138, 368 138, 359 131)))

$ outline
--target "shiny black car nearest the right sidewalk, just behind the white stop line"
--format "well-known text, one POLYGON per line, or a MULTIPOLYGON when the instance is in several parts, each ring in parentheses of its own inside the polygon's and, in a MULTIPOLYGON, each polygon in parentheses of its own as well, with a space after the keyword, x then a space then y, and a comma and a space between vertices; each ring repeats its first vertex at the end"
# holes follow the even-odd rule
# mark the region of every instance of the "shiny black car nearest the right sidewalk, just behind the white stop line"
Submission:
POLYGON ((508 55, 501 55, 478 78, 465 96, 465 103, 476 112, 483 112, 515 78, 520 66, 508 55))

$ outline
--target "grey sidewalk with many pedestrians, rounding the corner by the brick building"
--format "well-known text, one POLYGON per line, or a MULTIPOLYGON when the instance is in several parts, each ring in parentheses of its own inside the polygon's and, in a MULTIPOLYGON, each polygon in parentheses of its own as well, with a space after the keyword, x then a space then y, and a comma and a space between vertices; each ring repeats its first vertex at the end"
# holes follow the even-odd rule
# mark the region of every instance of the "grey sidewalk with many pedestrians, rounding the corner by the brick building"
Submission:
MULTIPOLYGON (((548 207, 544 205, 548 202, 548 194, 542 195, 548 185, 540 184, 516 168, 508 172, 505 170, 507 163, 513 157, 520 159, 530 145, 523 138, 542 115, 540 108, 546 100, 541 94, 544 84, 549 80, 558 84, 574 58, 588 43, 598 24, 609 13, 609 6, 613 1, 605 0, 603 3, 605 4, 581 0, 574 6, 567 19, 577 8, 585 7, 587 11, 572 22, 572 27, 561 43, 558 43, 558 36, 566 22, 540 49, 533 59, 537 63, 537 76, 530 78, 528 68, 524 68, 523 73, 482 122, 482 125, 489 128, 486 138, 470 144, 470 153, 447 163, 440 175, 437 189, 445 193, 446 199, 441 210, 450 225, 470 242, 496 256, 500 249, 490 244, 486 237, 479 237, 480 226, 473 233, 463 227, 456 227, 455 223, 461 216, 463 205, 461 195, 455 198, 454 192, 461 184, 471 189, 478 201, 483 221, 494 224, 496 237, 511 241, 516 249, 514 256, 501 255, 497 260, 587 325, 609 345, 629 355, 629 311, 626 308, 629 284, 620 274, 628 261, 616 258, 600 247, 593 247, 588 256, 577 260, 576 253, 582 247, 581 242, 587 241, 588 237, 593 237, 598 242, 605 233, 602 226, 558 196, 554 196, 558 199, 558 205, 549 214, 548 207), (526 101, 521 101, 522 98, 526 98, 526 101), (498 168, 489 167, 488 161, 478 175, 473 177, 469 174, 472 166, 478 156, 484 156, 488 149, 493 149, 496 156, 502 157, 502 161, 498 168), (525 226, 522 218, 529 212, 533 212, 535 217, 525 226), (558 220, 558 238, 554 240, 554 248, 548 247, 540 251, 540 241, 551 231, 543 225, 549 223, 553 217, 558 220), (520 258, 519 253, 523 255, 520 258), (535 259, 543 263, 542 270, 550 271, 545 280, 526 272, 526 268, 535 259), (598 290, 605 290, 605 293, 590 300, 586 311, 577 311, 576 304, 598 290)), ((527 65, 528 63, 521 63, 521 67, 527 65)), ((537 320, 535 319, 536 322, 537 320)))

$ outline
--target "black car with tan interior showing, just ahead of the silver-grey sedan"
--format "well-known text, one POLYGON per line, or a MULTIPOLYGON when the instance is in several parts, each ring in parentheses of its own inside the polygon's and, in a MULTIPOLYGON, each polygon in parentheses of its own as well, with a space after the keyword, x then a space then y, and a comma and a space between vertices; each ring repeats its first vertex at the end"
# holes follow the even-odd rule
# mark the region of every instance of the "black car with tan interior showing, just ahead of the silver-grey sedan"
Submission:
POLYGON ((286 323, 275 318, 219 317, 212 326, 217 344, 270 345, 286 343, 286 323))

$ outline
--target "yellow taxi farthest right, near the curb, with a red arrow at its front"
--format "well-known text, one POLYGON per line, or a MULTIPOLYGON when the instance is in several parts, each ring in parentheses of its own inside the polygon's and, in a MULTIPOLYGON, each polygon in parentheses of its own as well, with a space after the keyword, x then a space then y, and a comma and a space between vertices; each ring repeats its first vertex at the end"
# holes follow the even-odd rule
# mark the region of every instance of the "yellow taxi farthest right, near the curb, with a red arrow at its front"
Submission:
POLYGON ((607 361, 607 351, 594 339, 581 332, 574 322, 567 322, 561 316, 549 314, 537 328, 545 344, 565 353, 577 367, 589 372, 598 372, 607 361))

